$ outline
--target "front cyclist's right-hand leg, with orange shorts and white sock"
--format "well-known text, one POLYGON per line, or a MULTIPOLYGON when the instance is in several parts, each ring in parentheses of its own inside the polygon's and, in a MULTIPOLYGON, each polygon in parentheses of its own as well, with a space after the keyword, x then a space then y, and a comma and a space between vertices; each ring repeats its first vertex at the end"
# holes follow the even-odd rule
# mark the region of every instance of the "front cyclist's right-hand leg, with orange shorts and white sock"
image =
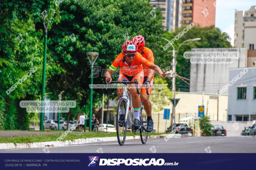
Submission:
MULTIPOLYGON (((144 72, 142 71, 142 72, 137 73, 132 78, 132 81, 134 81, 135 78, 138 81, 138 90, 140 92, 141 85, 142 85, 143 79, 144 79, 144 72)), ((134 126, 139 127, 140 126, 139 120, 140 120, 141 98, 140 98, 140 95, 137 93, 134 85, 132 88, 129 88, 129 92, 131 93, 131 96, 132 96, 132 106, 134 109, 134 126)))

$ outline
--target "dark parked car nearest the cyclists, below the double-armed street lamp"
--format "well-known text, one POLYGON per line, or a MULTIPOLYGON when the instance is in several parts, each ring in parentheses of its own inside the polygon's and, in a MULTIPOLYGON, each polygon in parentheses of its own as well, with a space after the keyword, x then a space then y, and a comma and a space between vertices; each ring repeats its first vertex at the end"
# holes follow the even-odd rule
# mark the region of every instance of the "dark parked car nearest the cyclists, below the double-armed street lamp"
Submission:
POLYGON ((193 128, 189 127, 188 124, 186 123, 174 123, 173 125, 168 127, 168 129, 166 130, 166 133, 171 133, 172 131, 173 133, 175 132, 175 134, 193 136, 193 128))

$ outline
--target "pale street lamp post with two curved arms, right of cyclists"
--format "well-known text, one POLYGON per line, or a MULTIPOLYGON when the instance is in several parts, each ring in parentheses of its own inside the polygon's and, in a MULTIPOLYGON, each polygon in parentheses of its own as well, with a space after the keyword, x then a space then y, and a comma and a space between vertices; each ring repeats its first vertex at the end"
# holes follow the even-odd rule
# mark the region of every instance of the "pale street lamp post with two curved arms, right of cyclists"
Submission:
MULTIPOLYGON (((188 42, 188 41, 196 41, 196 40, 200 40, 200 38, 195 38, 195 39, 188 39, 188 40, 186 40, 186 41, 184 41, 184 42, 182 42, 180 45, 179 45, 179 47, 177 48, 177 51, 175 52, 175 48, 174 48, 174 46, 173 46, 173 43, 171 43, 168 39, 166 39, 166 38, 163 38, 164 40, 166 40, 166 41, 168 41, 168 43, 170 43, 171 45, 172 45, 172 47, 173 47, 173 50, 172 50, 172 52, 173 52, 173 89, 172 89, 172 98, 173 99, 175 99, 175 89, 176 89, 176 61, 177 61, 177 54, 178 54, 178 51, 179 51, 179 47, 182 45, 182 44, 184 44, 184 43, 186 43, 186 42, 188 42)), ((173 115, 171 116, 171 123, 173 124, 173 123, 175 123, 175 105, 173 105, 173 115)))

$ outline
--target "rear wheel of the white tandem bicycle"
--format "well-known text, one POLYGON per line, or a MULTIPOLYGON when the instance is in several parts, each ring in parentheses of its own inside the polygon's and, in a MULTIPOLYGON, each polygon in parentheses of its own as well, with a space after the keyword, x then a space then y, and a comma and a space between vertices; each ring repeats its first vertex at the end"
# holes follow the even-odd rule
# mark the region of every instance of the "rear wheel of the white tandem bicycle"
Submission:
POLYGON ((141 107, 141 129, 140 129, 140 136, 141 136, 141 142, 143 144, 146 144, 147 138, 148 138, 148 132, 147 129, 147 114, 144 109, 144 107, 141 107))

